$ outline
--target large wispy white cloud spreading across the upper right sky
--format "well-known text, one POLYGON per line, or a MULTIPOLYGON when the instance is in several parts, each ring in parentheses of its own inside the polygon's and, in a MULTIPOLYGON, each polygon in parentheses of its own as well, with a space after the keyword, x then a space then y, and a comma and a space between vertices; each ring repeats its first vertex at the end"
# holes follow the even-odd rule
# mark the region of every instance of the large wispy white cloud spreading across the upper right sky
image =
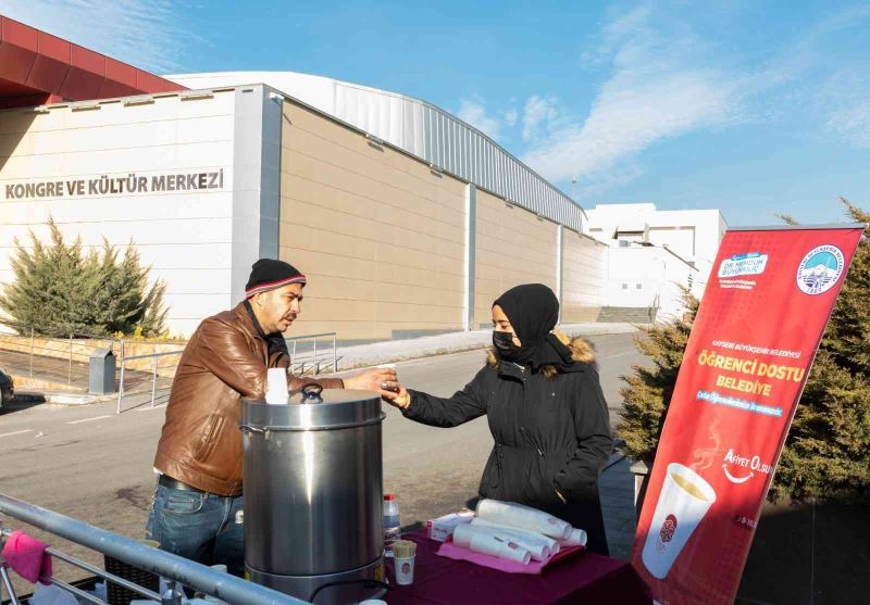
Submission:
MULTIPOLYGON (((846 8, 796 33, 768 61, 746 60, 741 67, 743 56, 713 52, 712 42, 667 5, 647 2, 611 13, 581 54, 586 64, 610 65, 588 115, 530 99, 523 136, 532 144, 524 161, 554 181, 575 177, 581 196, 606 192, 643 174, 638 156, 657 142, 776 119, 786 103, 811 104, 819 97, 818 84, 811 88, 803 77, 836 64, 835 58, 825 58, 825 47, 835 46, 842 30, 861 27, 868 18, 870 7, 846 8), (547 128, 539 128, 543 124, 547 128)), ((828 86, 823 106, 809 117, 821 116, 828 131, 867 148, 870 87, 856 85, 860 73, 853 70, 828 86)))

